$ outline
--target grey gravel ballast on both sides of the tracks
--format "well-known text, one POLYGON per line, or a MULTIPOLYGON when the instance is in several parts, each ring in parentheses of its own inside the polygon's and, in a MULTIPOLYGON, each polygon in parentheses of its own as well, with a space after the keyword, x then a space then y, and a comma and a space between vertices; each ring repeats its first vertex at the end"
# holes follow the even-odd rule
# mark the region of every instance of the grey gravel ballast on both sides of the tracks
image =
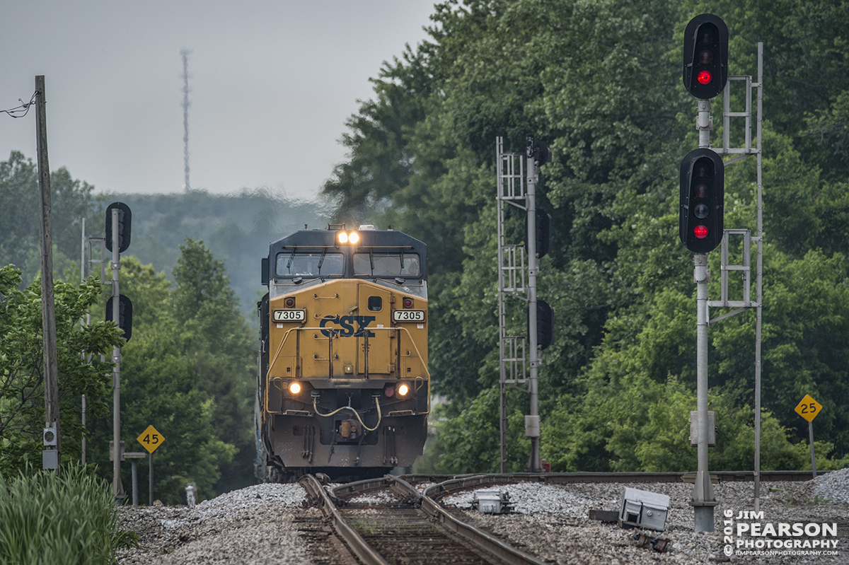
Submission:
MULTIPOLYGON (((419 485, 420 486, 420 485, 419 485)), ((558 565, 701 565, 712 562, 796 565, 849 564, 849 469, 828 473, 805 482, 762 482, 762 517, 739 518, 753 510, 752 483, 723 482, 714 485, 719 502, 714 510, 717 529, 694 533, 693 508, 689 506, 693 485, 654 484, 567 484, 519 483, 507 489, 514 512, 481 514, 470 510, 472 490, 447 496, 458 514, 481 529, 545 562, 558 565), (638 547, 634 534, 641 530, 621 529, 616 523, 588 518, 591 509, 618 510, 625 487, 670 496, 663 532, 644 533, 666 538, 666 552, 638 547), (732 516, 727 517, 726 512, 732 516), (723 523, 728 520, 730 524, 723 523), (739 525, 751 523, 822 524, 837 523, 837 535, 779 538, 793 542, 828 540, 835 547, 774 550, 747 549, 747 542, 767 540, 762 536, 738 534, 739 525), (725 528, 732 534, 726 537, 725 528), (729 540, 730 538, 730 540, 729 540), (730 545, 731 555, 725 548, 730 545), (745 553, 752 551, 752 553, 745 553), (760 555, 755 551, 761 551, 760 555), (826 551, 832 552, 827 555, 826 551)), ((139 534, 142 549, 126 550, 118 562, 173 563, 318 563, 295 527, 304 519, 321 516, 316 508, 304 508, 304 491, 297 484, 260 484, 186 506, 125 507, 123 529, 139 534)), ((383 502, 375 496, 358 497, 361 503, 383 502)), ((767 536, 772 537, 772 536, 767 536)))

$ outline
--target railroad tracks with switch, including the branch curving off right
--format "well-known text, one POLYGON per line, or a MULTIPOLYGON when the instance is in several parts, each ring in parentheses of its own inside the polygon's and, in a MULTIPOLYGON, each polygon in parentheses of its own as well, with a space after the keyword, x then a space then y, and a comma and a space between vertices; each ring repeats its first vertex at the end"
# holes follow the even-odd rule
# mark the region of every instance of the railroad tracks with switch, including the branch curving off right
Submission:
MULTIPOLYGON (((694 473, 693 473, 694 474, 694 473)), ((761 473, 762 481, 801 481, 809 472, 761 473)), ((714 482, 752 481, 751 472, 711 473, 714 482)), ((328 493, 312 476, 301 478, 308 497, 322 506, 329 523, 351 552, 350 562, 366 565, 425 563, 510 563, 543 561, 466 523, 463 512, 442 508, 439 500, 463 490, 532 482, 681 483, 687 473, 511 473, 466 476, 405 475, 344 484, 328 493), (420 492, 413 484, 429 483, 420 492), (370 494, 368 499, 361 495, 370 494), (359 501, 356 499, 359 498, 359 501)), ((340 544, 339 544, 340 545, 340 544)))

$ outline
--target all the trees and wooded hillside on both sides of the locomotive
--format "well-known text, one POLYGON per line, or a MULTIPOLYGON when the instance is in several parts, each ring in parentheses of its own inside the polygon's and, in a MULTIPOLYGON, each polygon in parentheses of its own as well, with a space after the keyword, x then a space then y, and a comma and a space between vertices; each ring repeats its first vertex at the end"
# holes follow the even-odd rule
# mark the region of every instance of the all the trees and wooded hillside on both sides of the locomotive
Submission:
MULTIPOLYGON (((728 24, 730 74, 755 75, 756 42, 764 43, 762 465, 809 465, 807 422, 793 412, 804 394, 824 406, 815 422, 818 467, 846 464, 847 6, 436 4, 430 40, 385 64, 373 80, 374 98, 351 116, 342 138, 350 158, 323 188, 335 221, 394 227, 428 243, 431 374, 435 392, 450 400, 434 418, 440 435, 430 470, 498 467, 495 137, 521 152, 527 133, 554 151, 537 186, 538 206, 554 216, 554 249, 538 280, 556 325, 540 371, 543 457, 560 471, 694 467, 687 422, 695 404, 693 267, 678 242, 677 218, 678 164, 697 137, 694 99, 680 76, 684 26, 706 10, 728 24)), ((732 107, 744 108, 739 83, 731 88, 732 107)), ((739 145, 740 128, 731 134, 739 145)), ((711 136, 721 135, 715 113, 711 136)), ((106 202, 121 200, 133 210, 130 252, 139 260, 123 257, 121 267, 121 290, 134 305, 121 365, 122 429, 127 445, 150 423, 166 436, 156 455, 155 495, 174 502, 188 481, 204 496, 250 481, 254 338, 240 312, 258 298, 267 243, 304 223, 318 226, 321 210, 263 190, 95 196, 65 169, 51 179, 57 273, 79 256, 82 218, 91 235, 103 230, 106 202)), ((755 229, 753 158, 726 168, 725 208, 726 227, 755 229)), ((14 152, 0 163, 0 265, 14 263, 23 276, 5 269, 0 280, 3 331, 14 337, 0 342, 4 382, 11 383, 0 406, 0 440, 3 454, 17 461, 39 449, 35 436, 21 431, 37 428, 40 418, 33 400, 38 293, 21 288, 38 271, 37 210, 35 165, 14 152), (13 360, 25 355, 30 368, 21 369, 25 364, 13 360), (12 411, 18 419, 9 424, 12 411)), ((522 229, 516 212, 509 212, 514 235, 522 229)), ((732 240, 738 259, 739 252, 732 240)), ((710 267, 717 273, 712 298, 719 292, 718 253, 710 267)), ((739 298, 739 278, 734 284, 739 298)), ((57 286, 67 321, 93 304, 97 288, 57 286)), ((102 335, 73 322, 63 328, 67 355, 108 350, 117 339, 110 326, 98 326, 102 335)), ((525 328, 522 305, 511 303, 510 333, 525 328)), ((722 320, 710 334, 711 410, 719 428, 711 468, 751 468, 754 315, 722 320)), ((63 429, 76 438, 82 433, 72 408, 86 391, 95 418, 90 458, 108 473, 109 364, 83 370, 68 362, 63 429), (91 373, 74 377, 79 371, 91 373)), ((512 470, 525 467, 526 410, 526 394, 511 389, 512 470)), ((74 441, 65 443, 69 456, 74 441)), ((129 489, 128 468, 124 484, 129 489)))

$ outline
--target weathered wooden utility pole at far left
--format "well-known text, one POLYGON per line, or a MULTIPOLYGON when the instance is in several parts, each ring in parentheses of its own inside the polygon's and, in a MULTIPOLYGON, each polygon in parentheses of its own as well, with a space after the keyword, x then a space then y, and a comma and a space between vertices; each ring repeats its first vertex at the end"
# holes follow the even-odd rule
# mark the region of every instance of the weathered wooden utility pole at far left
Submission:
POLYGON ((48 164, 48 125, 44 100, 44 76, 36 77, 36 144, 38 190, 41 204, 42 244, 42 331, 44 334, 44 468, 59 474, 59 372, 56 353, 56 310, 53 304, 53 225, 50 205, 50 165, 48 164), (54 445, 53 441, 55 442, 54 445), (52 449, 51 449, 52 448, 52 449), (55 453, 51 453, 55 451, 55 453))

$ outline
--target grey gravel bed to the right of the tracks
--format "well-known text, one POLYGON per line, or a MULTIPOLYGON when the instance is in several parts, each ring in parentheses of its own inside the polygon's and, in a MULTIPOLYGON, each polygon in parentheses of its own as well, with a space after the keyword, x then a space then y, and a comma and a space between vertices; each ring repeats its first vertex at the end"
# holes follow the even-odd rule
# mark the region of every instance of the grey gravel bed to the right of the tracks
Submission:
MULTIPOLYGON (((693 485, 683 483, 656 484, 571 484, 565 487, 546 484, 514 484, 505 487, 514 501, 514 513, 492 516, 479 512, 464 512, 469 521, 481 529, 507 540, 511 545, 529 551, 537 557, 559 565, 699 565, 709 562, 738 563, 849 563, 849 469, 829 473, 803 483, 776 482, 761 484, 763 517, 756 520, 737 520, 740 511, 754 509, 753 483, 722 483, 715 485, 719 505, 714 508, 717 530, 694 533, 693 507, 689 506, 693 485), (591 509, 616 511, 624 488, 648 490, 670 497, 666 530, 647 532, 670 540, 665 553, 640 548, 633 540, 638 532, 620 529, 615 523, 599 523, 588 519, 591 509), (722 531, 725 512, 730 518, 733 535, 730 544, 722 531), (794 540, 836 541, 830 550, 821 548, 775 550, 769 555, 745 555, 745 545, 738 541, 766 540, 749 534, 737 535, 737 523, 838 523, 838 537, 794 540), (732 555, 723 551, 731 545, 732 555), (806 552, 804 554, 803 552, 806 552), (836 551, 836 555, 816 554, 817 551, 836 551)), ((471 492, 447 496, 442 504, 469 508, 471 492)), ((750 548, 749 551, 756 551, 750 548)), ((770 551, 764 548, 762 551, 770 551)))

